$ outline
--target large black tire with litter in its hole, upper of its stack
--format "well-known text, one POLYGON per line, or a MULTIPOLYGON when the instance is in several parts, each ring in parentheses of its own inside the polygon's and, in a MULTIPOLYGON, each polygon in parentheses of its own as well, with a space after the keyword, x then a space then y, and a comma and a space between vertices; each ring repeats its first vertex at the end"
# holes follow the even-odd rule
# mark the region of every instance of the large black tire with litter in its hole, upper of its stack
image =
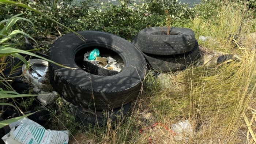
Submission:
POLYGON ((78 31, 86 40, 69 33, 57 39, 50 60, 65 66, 49 64, 49 79, 55 91, 65 100, 84 108, 103 110, 127 104, 138 96, 146 73, 143 55, 125 39, 100 31, 78 31), (75 63, 75 53, 82 48, 98 46, 116 52, 124 60, 124 69, 113 76, 98 76, 83 71, 75 63))

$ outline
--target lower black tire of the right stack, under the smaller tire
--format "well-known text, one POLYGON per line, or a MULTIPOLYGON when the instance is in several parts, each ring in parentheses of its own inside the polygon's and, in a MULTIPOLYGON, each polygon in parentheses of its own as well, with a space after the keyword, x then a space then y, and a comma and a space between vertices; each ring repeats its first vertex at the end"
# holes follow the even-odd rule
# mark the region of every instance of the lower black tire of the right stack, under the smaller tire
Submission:
MULTIPOLYGON (((139 48, 137 41, 138 36, 135 36, 131 43, 137 48, 139 48)), ((147 62, 151 68, 162 72, 181 71, 187 68, 192 62, 195 62, 201 56, 199 53, 197 41, 194 45, 194 48, 190 52, 184 54, 159 56, 143 53, 143 55, 147 59, 147 62)))

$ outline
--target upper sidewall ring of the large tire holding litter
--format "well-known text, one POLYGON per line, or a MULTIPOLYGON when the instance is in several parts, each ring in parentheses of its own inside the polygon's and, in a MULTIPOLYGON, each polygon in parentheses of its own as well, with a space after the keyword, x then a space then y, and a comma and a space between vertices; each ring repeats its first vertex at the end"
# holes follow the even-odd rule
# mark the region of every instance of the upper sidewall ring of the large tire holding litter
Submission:
POLYGON ((76 68, 72 70, 50 64, 57 75, 62 75, 63 79, 69 80, 84 89, 90 90, 93 88, 94 92, 125 90, 141 82, 144 77, 146 69, 144 64, 146 62, 131 43, 116 35, 98 31, 81 31, 78 34, 82 35, 86 42, 74 33, 70 33, 53 44, 51 53, 58 53, 61 58, 50 55, 50 59, 67 67, 76 68), (85 46, 102 46, 113 50, 124 60, 125 67, 123 71, 113 76, 98 76, 83 71, 76 65, 74 58, 75 53, 85 46), (129 83, 120 84, 125 80, 129 80, 129 83), (103 84, 105 84, 105 87, 102 87, 103 84))

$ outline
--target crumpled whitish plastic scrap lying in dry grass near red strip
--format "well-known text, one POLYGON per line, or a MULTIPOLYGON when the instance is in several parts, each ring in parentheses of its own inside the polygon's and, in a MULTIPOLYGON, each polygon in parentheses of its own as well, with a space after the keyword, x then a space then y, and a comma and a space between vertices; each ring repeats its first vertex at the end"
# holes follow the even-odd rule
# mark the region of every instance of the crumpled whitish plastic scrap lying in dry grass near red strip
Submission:
POLYGON ((172 130, 176 133, 174 136, 176 140, 188 140, 192 135, 192 126, 188 120, 173 124, 172 130))

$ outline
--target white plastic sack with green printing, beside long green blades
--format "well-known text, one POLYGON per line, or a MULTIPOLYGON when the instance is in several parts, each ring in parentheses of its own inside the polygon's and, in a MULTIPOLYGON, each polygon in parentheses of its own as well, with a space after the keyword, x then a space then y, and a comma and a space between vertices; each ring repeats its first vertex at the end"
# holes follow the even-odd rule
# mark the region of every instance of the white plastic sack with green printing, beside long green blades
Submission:
POLYGON ((36 122, 22 118, 9 124, 11 131, 2 137, 5 144, 67 144, 69 131, 45 129, 36 122))

